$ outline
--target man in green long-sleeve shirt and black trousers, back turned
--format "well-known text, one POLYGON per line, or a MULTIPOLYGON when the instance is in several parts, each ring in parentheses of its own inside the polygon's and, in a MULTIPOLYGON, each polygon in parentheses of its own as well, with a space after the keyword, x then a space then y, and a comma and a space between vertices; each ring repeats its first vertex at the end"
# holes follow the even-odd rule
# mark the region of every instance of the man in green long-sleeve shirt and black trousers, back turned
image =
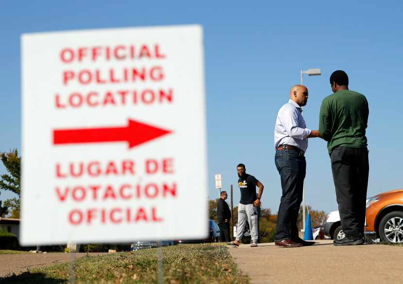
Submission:
POLYGON ((368 102, 363 94, 349 90, 344 71, 334 71, 330 84, 334 93, 324 98, 320 107, 319 133, 327 141, 341 227, 346 234, 333 244, 361 245, 369 175, 365 136, 368 102))

